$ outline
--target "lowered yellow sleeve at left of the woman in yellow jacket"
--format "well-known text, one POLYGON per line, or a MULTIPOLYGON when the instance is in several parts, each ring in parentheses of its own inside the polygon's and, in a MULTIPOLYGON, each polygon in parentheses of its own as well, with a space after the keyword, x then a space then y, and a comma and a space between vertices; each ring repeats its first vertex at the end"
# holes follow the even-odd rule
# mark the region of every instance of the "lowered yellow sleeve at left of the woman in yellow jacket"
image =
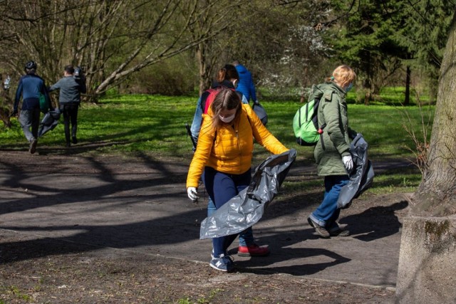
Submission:
POLYGON ((204 167, 210 157, 214 145, 215 132, 212 129, 212 119, 209 115, 203 116, 201 131, 199 132, 198 145, 187 174, 187 188, 198 187, 204 167))

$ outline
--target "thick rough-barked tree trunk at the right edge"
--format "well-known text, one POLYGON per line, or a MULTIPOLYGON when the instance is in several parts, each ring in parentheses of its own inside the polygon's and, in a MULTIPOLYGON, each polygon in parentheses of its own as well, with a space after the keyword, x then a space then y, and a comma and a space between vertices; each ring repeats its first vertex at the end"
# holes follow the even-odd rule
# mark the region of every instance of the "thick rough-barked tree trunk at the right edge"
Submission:
POLYGON ((430 150, 423 181, 413 196, 415 214, 456 214, 456 14, 445 48, 430 150))

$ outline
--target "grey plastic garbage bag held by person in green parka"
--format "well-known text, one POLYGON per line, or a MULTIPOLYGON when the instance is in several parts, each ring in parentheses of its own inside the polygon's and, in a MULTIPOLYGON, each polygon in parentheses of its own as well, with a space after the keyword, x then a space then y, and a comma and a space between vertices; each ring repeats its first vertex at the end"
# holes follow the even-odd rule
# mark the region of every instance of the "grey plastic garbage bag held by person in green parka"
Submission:
POLYGON ((350 181, 342 187, 337 200, 337 207, 341 209, 348 208, 353 199, 371 187, 374 177, 371 161, 368 160, 368 143, 361 133, 351 142, 350 153, 354 169, 350 174, 350 181))

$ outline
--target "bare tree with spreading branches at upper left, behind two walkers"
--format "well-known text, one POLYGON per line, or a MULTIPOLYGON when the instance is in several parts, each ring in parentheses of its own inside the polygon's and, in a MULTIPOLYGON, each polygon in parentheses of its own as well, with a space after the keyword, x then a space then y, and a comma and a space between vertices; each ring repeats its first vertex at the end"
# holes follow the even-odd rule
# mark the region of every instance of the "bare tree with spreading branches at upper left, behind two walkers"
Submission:
MULTIPOLYGON (((209 9, 199 0, 6 2, 2 20, 14 38, 0 46, 0 61, 20 75, 33 58, 48 82, 60 76, 63 65, 81 65, 93 100, 132 73, 213 36, 209 31, 187 35, 209 9)), ((0 37, 6 33, 0 31, 0 37)))

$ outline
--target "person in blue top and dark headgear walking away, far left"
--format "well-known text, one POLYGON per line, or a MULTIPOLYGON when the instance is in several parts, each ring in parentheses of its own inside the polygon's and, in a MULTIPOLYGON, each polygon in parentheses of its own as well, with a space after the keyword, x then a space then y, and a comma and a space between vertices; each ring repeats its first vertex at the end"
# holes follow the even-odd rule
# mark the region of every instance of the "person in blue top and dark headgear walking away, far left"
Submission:
POLYGON ((25 72, 26 75, 23 75, 21 79, 19 79, 19 85, 16 90, 16 98, 14 99, 14 110, 11 115, 18 114, 19 100, 21 100, 22 96, 19 123, 21 124, 22 131, 28 140, 28 152, 33 154, 36 152, 36 145, 38 144, 38 127, 41 112, 40 95, 44 95, 48 105, 51 105, 51 103, 43 78, 36 75, 35 61, 28 61, 26 63, 25 72))

